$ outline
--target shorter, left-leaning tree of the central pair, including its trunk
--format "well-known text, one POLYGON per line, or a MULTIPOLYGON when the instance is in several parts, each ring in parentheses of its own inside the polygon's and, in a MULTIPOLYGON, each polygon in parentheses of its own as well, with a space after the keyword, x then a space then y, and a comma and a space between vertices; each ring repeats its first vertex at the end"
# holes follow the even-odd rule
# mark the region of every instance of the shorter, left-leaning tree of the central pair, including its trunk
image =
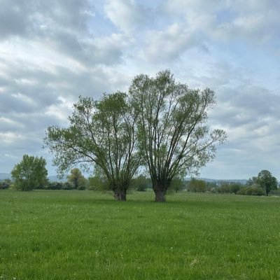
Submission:
POLYGON ((48 127, 45 144, 63 174, 70 167, 95 165, 102 170, 116 200, 126 200, 127 189, 139 167, 134 109, 124 92, 104 94, 101 100, 80 97, 73 106, 70 126, 48 127))

